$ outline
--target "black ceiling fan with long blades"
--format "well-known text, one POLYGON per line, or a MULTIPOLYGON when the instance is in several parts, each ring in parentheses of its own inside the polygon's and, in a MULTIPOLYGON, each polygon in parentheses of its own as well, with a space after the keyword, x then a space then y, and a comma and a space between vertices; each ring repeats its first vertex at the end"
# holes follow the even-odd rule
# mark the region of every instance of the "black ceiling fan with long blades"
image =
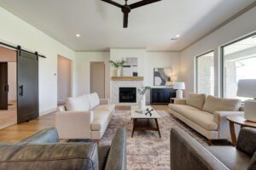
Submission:
POLYGON ((128 26, 128 14, 131 12, 131 9, 139 8, 139 7, 142 7, 144 5, 148 5, 149 3, 156 3, 156 2, 161 1, 161 0, 143 0, 143 1, 139 1, 137 3, 132 3, 130 5, 127 4, 128 0, 125 0, 124 5, 116 3, 112 0, 102 0, 102 1, 106 2, 106 3, 110 3, 114 6, 119 7, 119 8, 122 9, 122 12, 124 13, 124 28, 127 28, 127 26, 128 26))

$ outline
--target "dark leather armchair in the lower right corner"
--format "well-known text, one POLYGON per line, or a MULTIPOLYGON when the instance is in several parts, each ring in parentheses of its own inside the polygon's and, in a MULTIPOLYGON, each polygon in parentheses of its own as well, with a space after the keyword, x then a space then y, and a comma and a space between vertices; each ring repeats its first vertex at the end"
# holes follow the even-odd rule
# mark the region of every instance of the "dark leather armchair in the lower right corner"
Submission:
POLYGON ((256 129, 242 128, 237 146, 204 148, 182 129, 171 130, 172 170, 256 170, 256 129))

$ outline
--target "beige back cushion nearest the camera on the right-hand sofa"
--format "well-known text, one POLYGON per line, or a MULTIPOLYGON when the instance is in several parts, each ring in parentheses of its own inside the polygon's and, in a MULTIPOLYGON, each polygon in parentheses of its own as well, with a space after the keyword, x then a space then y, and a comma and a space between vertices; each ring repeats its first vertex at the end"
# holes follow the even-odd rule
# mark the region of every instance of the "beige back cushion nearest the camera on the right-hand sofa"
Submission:
POLYGON ((209 95, 203 107, 203 111, 214 113, 215 111, 239 111, 241 100, 223 99, 209 95))

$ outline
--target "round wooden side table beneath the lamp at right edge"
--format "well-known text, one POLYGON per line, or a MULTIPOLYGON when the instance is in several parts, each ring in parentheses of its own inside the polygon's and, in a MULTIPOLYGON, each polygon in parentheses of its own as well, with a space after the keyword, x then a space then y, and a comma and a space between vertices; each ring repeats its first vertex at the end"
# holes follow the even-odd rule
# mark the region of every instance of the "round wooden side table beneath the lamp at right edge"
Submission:
POLYGON ((227 116, 227 120, 230 121, 230 135, 232 139, 232 144, 236 146, 236 131, 235 124, 238 124, 242 127, 254 127, 256 128, 256 122, 247 121, 244 116, 227 116))

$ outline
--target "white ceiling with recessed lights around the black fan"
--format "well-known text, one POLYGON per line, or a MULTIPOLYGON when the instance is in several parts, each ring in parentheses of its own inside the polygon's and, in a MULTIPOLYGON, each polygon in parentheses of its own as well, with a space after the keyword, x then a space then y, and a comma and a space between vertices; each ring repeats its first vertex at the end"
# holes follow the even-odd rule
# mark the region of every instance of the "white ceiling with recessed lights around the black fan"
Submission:
POLYGON ((181 50, 253 2, 255 0, 162 0, 133 9, 129 26, 124 29, 120 9, 101 0, 0 0, 3 8, 78 51, 181 50), (75 37, 77 33, 81 37, 75 37), (171 41, 177 34, 181 37, 171 41))

